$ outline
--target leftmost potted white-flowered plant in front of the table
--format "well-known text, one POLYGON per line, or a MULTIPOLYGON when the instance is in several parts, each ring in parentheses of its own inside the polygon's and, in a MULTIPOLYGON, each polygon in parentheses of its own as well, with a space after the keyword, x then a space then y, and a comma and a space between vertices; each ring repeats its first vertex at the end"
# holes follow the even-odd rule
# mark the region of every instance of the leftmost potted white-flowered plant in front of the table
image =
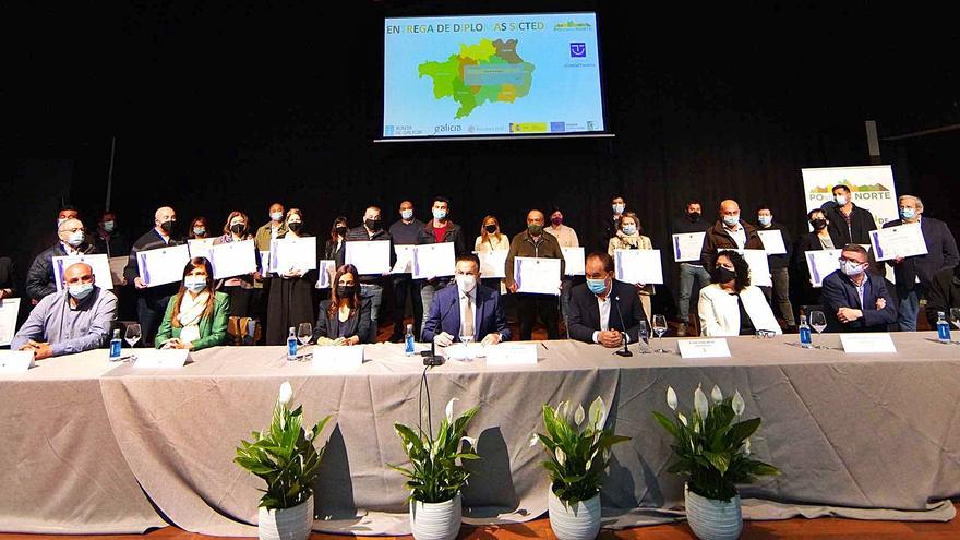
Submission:
POLYGON ((280 385, 267 431, 254 431, 252 441, 240 441, 233 461, 266 482, 260 499, 256 530, 265 540, 303 540, 313 528, 313 480, 326 446, 316 448, 316 435, 326 417, 313 429, 303 429, 303 407, 290 410, 290 383, 280 385))

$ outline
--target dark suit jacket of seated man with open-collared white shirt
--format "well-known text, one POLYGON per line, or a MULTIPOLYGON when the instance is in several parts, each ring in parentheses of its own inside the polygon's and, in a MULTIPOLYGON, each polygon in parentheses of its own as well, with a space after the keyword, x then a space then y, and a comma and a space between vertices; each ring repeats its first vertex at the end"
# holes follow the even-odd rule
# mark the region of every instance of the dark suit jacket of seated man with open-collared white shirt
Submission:
MULTIPOLYGON (((608 326, 612 331, 626 332, 629 341, 635 344, 639 340, 640 321, 646 321, 647 315, 640 305, 640 299, 633 285, 613 280, 610 298, 620 305, 610 307, 608 326), (620 297, 620 300, 616 298, 620 297), (623 321, 621 322, 621 314, 623 321)), ((578 341, 593 343, 593 333, 600 329, 600 307, 597 304, 597 296, 590 292, 587 284, 580 284, 571 290, 571 312, 567 317, 571 338, 578 341)))

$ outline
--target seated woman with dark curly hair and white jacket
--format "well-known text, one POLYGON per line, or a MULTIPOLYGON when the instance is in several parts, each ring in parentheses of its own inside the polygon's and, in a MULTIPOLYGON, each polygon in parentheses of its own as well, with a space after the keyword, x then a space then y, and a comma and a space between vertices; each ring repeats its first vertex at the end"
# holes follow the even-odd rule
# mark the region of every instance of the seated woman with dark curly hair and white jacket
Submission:
POLYGON ((713 260, 710 280, 700 289, 697 311, 703 336, 753 336, 766 331, 782 334, 767 297, 749 284, 749 265, 735 251, 721 251, 713 260))

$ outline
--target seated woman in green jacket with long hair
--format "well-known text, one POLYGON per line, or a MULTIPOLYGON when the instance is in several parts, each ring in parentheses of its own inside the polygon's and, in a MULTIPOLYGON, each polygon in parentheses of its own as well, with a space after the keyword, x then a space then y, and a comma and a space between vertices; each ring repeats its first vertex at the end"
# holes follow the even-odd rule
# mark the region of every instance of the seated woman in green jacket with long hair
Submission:
POLYGON ((223 345, 230 319, 230 296, 214 291, 214 271, 206 257, 183 267, 180 290, 167 302, 154 339, 158 349, 200 350, 223 345))

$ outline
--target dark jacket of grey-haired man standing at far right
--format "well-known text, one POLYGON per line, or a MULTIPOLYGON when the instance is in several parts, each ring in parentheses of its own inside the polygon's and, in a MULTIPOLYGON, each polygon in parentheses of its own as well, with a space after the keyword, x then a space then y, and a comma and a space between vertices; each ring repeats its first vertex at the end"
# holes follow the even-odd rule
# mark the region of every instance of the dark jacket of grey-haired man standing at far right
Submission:
MULTIPOLYGON (((903 223, 900 219, 887 221, 884 224, 884 228, 897 227, 898 225, 903 225, 903 223)), ((926 255, 909 256, 900 264, 887 261, 887 264, 893 267, 893 275, 897 276, 897 290, 901 292, 913 290, 916 286, 916 278, 920 278, 920 284, 927 288, 938 272, 960 263, 957 241, 953 239, 953 233, 947 228, 947 224, 932 217, 921 217, 920 230, 923 231, 926 255)))

